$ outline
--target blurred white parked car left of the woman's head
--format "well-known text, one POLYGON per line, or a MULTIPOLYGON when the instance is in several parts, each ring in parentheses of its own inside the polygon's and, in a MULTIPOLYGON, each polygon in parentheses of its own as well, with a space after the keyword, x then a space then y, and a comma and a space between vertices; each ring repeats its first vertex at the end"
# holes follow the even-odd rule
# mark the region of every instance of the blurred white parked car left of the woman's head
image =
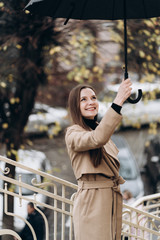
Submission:
POLYGON ((25 133, 29 135, 57 135, 68 126, 68 111, 61 107, 50 107, 46 104, 35 103, 29 116, 25 133))

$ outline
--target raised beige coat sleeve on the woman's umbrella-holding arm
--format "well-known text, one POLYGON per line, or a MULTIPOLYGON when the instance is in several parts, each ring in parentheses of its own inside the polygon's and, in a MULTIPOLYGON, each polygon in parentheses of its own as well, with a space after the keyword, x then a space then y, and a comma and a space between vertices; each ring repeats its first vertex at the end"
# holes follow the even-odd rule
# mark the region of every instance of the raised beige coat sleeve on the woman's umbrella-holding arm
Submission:
POLYGON ((86 131, 79 125, 73 125, 67 129, 66 145, 76 152, 100 148, 108 142, 121 119, 120 114, 109 108, 100 124, 93 131, 86 131))

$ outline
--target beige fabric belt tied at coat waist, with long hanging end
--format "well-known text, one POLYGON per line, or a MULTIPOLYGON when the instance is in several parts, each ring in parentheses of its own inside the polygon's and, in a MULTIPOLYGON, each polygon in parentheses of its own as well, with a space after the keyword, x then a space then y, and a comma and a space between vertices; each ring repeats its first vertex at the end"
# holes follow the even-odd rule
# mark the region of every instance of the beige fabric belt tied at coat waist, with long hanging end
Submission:
POLYGON ((120 185, 125 180, 119 177, 106 178, 104 181, 78 181, 78 192, 84 189, 104 189, 111 188, 113 195, 112 204, 112 240, 121 239, 122 228, 122 194, 120 192, 120 185))

